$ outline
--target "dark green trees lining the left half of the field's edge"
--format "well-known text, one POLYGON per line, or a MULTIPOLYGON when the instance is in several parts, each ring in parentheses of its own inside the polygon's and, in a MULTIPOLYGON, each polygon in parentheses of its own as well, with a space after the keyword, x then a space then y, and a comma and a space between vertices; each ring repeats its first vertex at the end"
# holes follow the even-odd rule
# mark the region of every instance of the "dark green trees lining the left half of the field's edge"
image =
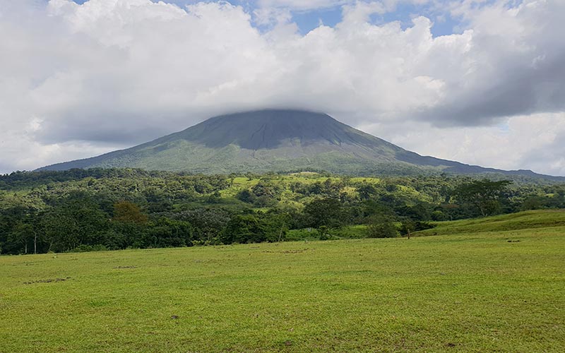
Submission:
POLYGON ((76 191, 47 210, 15 207, 0 216, 2 253, 162 248, 278 241, 287 228, 274 213, 197 208, 148 215, 135 203, 76 191), (101 202, 102 201, 102 202, 101 202))

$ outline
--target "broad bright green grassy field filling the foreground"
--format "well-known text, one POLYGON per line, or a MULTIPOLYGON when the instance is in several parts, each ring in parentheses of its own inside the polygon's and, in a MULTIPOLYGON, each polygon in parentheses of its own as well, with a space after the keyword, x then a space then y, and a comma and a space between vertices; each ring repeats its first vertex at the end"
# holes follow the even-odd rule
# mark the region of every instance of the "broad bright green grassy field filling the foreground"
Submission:
POLYGON ((565 227, 491 221, 410 240, 3 256, 0 352, 565 352, 565 227))

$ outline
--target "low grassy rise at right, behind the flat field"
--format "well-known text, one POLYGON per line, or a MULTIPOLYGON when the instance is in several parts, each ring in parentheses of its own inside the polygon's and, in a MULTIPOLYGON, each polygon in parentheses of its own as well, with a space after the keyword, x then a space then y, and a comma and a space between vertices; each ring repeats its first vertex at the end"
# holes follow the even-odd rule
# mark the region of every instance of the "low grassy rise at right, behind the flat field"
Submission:
POLYGON ((565 227, 565 210, 533 210, 510 215, 436 222, 433 229, 415 235, 446 235, 459 233, 504 232, 518 229, 565 227))

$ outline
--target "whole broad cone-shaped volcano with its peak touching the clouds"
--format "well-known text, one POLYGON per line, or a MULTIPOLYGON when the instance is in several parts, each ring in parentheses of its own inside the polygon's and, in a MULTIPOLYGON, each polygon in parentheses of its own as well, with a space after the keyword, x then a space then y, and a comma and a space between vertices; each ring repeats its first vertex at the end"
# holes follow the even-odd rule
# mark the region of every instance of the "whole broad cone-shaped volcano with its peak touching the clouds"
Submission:
POLYGON ((325 170, 343 174, 504 172, 423 157, 333 119, 327 114, 267 109, 215 116, 184 131, 126 150, 43 167, 65 170, 136 167, 215 174, 325 170))

